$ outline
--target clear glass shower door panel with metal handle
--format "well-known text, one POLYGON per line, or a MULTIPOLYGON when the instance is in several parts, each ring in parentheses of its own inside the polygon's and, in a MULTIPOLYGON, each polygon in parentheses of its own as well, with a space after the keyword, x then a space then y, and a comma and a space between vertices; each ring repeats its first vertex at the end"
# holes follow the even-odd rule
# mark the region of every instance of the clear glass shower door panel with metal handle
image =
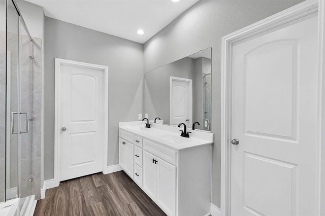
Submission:
MULTIPOLYGON (((12 6, 7 9, 6 200, 31 194, 31 42, 12 6)), ((23 203, 23 199, 22 202, 23 203)))

